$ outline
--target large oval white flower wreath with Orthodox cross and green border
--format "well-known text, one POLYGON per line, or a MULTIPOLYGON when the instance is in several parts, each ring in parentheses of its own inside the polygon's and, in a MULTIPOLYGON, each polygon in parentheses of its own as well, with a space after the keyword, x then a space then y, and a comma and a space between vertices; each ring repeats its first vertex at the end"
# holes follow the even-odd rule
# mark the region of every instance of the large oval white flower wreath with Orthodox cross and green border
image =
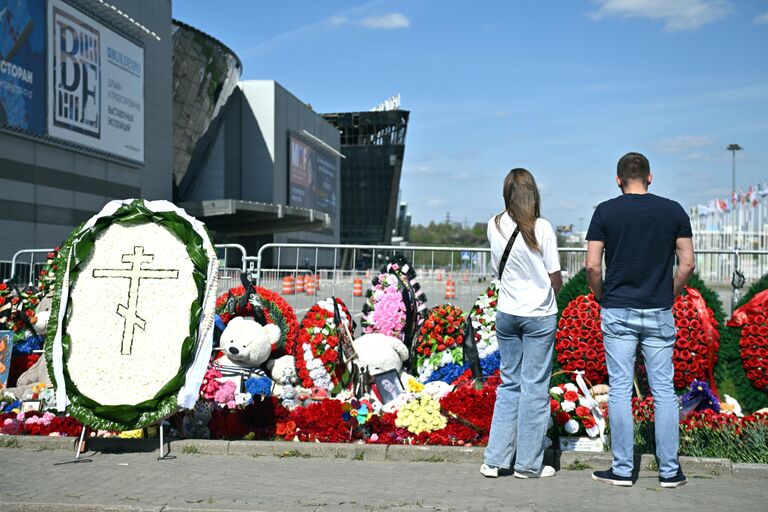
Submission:
MULTIPOLYGON (((137 239, 131 238, 130 241, 138 244, 137 239)), ((148 256, 152 255, 146 255, 148 256)), ((123 264, 126 261, 124 256, 123 264)), ((74 418, 91 428, 125 431, 158 421, 176 412, 180 405, 191 407, 197 398, 200 381, 205 372, 208 359, 206 352, 210 353, 217 274, 215 250, 204 226, 166 201, 112 201, 90 221, 72 232, 53 264, 56 267, 56 283, 45 353, 48 373, 57 392, 57 408, 64 410, 66 407, 67 412, 74 418), (139 360, 138 364, 144 371, 132 375, 130 382, 114 381, 113 373, 123 366, 120 358, 125 354, 121 350, 114 351, 113 355, 100 355, 97 360, 93 360, 96 356, 92 357, 90 354, 91 350, 101 350, 99 333, 115 331, 114 318, 94 316, 90 309, 93 304, 73 300, 80 281, 85 283, 87 288, 90 279, 99 277, 92 277, 90 273, 83 271, 91 272, 89 265, 98 250, 97 247, 101 247, 103 251, 115 249, 114 242, 108 241, 115 239, 114 236, 108 237, 115 227, 118 227, 118 230, 131 229, 131 233, 136 233, 137 239, 150 236, 146 234, 146 231, 150 230, 152 233, 163 233, 164 240, 176 240, 183 247, 181 250, 185 253, 185 258, 188 258, 188 263, 185 262, 184 265, 191 268, 191 281, 184 282, 184 289, 188 290, 185 293, 189 294, 189 303, 171 305, 179 308, 179 318, 188 318, 186 321, 181 320, 186 322, 186 333, 174 333, 181 341, 180 346, 177 348, 168 345, 170 353, 158 352, 151 361, 139 360), (191 290, 194 292, 190 293, 191 290), (81 319, 81 324, 75 328, 73 321, 76 318, 81 319), (73 360, 75 346, 78 359, 73 360), (175 375, 162 386, 155 387, 159 375, 157 369, 161 365, 175 368, 175 375), (78 377, 73 379, 73 374, 78 377), (119 396, 119 393, 128 388, 129 392, 149 394, 151 398, 139 403, 118 401, 121 405, 106 405, 107 402, 99 403, 81 392, 81 388, 103 390, 103 394, 112 396, 119 396)), ((141 272, 143 268, 139 265, 137 270, 141 272)), ((179 287, 181 283, 180 281, 179 287)), ((116 290, 114 293, 122 293, 119 288, 109 287, 110 290, 116 290)), ((167 289, 166 287, 165 290, 167 289)), ((169 306, 167 294, 151 295, 145 292, 144 295, 144 311, 155 312, 169 306)), ((120 304, 126 299, 115 295, 93 297, 93 300, 111 307, 112 303, 120 304)), ((130 304, 130 295, 127 300, 130 304)), ((135 321, 145 320, 138 317, 135 321)), ((165 373, 161 377, 164 379, 165 373)))

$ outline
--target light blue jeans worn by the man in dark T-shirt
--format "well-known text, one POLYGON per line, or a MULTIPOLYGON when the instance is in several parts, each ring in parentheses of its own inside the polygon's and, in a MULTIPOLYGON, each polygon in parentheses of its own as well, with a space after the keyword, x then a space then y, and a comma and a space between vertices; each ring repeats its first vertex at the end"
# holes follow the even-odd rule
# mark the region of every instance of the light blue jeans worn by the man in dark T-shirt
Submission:
POLYGON ((648 383, 653 394, 656 457, 659 474, 671 477, 680 467, 680 411, 673 378, 672 349, 675 345, 675 319, 671 309, 604 308, 603 342, 608 379, 608 420, 611 425, 613 472, 631 476, 634 457, 634 418, 632 383, 637 344, 643 352, 648 383))

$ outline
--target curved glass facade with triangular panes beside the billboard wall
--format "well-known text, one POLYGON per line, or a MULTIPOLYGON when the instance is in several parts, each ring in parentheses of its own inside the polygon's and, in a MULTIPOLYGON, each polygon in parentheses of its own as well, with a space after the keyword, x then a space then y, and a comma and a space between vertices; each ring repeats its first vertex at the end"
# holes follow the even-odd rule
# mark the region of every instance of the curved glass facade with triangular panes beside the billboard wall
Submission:
POLYGON ((196 28, 173 21, 173 186, 189 168, 200 138, 240 79, 235 53, 196 28))

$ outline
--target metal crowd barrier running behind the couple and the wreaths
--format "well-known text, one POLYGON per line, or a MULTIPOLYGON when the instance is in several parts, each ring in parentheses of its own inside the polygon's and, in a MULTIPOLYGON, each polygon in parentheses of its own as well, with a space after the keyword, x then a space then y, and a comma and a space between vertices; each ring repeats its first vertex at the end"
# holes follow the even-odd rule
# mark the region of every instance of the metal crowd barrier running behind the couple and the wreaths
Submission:
MULTIPOLYGON (((585 248, 566 247, 559 252, 566 280, 584 267, 585 248)), ((293 292, 283 293, 297 314, 308 310, 317 298, 330 295, 342 298, 353 314, 360 314, 365 299, 355 295, 355 280, 362 281, 364 291, 371 277, 396 254, 405 256, 417 271, 430 305, 452 303, 466 310, 491 279, 488 248, 266 244, 256 257, 246 259, 257 282, 278 293, 291 289, 283 288, 286 277, 295 282, 299 276, 315 276, 316 289, 296 292, 294 288, 293 292), (449 279, 452 286, 448 285, 449 279)), ((739 290, 734 293, 732 287, 734 271, 744 274, 746 290, 768 271, 768 251, 702 250, 696 252, 696 264, 699 275, 720 294, 725 309, 730 311, 739 297, 739 290)))

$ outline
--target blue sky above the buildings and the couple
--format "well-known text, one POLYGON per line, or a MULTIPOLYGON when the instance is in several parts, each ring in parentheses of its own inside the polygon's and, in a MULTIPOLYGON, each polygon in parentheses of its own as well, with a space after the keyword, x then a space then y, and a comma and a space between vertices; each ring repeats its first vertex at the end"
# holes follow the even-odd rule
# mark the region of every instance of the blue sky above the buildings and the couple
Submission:
POLYGON ((586 226, 640 151, 652 191, 688 208, 768 178, 768 0, 175 0, 243 79, 274 79, 318 112, 399 93, 401 179, 414 222, 503 209, 526 167, 555 224, 586 226))

